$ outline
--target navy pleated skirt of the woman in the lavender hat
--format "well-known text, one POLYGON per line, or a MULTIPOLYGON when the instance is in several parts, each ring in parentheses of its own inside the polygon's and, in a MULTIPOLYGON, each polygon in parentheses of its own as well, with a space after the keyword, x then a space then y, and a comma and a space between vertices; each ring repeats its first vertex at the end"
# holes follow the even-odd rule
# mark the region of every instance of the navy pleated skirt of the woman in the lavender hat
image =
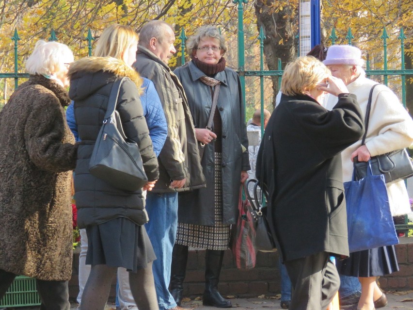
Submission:
POLYGON ((378 277, 398 271, 394 245, 350 253, 349 258, 336 261, 340 275, 350 277, 378 277))

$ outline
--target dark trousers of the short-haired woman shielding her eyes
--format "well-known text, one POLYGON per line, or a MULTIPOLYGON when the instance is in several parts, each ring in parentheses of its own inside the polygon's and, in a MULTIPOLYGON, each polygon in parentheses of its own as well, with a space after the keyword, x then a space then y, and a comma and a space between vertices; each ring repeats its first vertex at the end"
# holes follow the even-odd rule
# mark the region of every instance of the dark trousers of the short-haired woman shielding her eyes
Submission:
POLYGON ((337 268, 329 256, 329 253, 319 252, 285 262, 293 287, 289 309, 327 309, 340 287, 337 268))

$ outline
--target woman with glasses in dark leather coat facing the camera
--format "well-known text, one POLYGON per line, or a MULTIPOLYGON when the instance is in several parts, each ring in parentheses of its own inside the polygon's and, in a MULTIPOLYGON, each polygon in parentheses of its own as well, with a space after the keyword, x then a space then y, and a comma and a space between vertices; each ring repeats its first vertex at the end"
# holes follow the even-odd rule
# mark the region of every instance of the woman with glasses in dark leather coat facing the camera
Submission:
MULTIPOLYGON (((172 256, 171 294, 180 305, 188 246, 206 249, 203 304, 221 308, 231 302, 217 291, 230 225, 236 223, 240 183, 250 170, 248 139, 239 77, 225 67, 226 47, 218 29, 204 26, 187 41, 192 60, 175 70, 188 98, 198 143, 205 145, 201 161, 206 188, 179 193, 178 229, 172 256), (212 96, 220 84, 212 130, 206 129, 212 96)), ((201 171, 199 173, 202 173, 201 171)))

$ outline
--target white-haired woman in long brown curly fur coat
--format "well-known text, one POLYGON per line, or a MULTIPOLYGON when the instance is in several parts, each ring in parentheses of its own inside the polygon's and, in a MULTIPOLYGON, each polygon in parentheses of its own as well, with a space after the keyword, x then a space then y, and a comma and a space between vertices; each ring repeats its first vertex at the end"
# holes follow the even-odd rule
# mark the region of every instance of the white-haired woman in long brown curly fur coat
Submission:
POLYGON ((0 112, 0 299, 17 275, 34 277, 42 310, 67 310, 72 275, 70 184, 77 145, 64 107, 71 50, 39 41, 30 74, 0 112))

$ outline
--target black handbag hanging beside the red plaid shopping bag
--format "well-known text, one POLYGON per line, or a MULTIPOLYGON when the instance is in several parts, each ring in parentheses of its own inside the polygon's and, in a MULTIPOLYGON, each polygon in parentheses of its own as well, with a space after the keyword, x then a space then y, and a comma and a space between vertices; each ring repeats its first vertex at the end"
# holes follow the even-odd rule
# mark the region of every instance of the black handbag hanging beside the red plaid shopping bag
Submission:
MULTIPOLYGON (((253 221, 254 221, 254 228, 255 228, 255 249, 258 251, 274 251, 275 250, 275 243, 274 239, 272 238, 270 226, 267 221, 267 217, 263 213, 263 199, 262 196, 263 191, 259 187, 259 182, 256 179, 248 179, 245 185, 245 192, 247 195, 248 200, 252 206, 250 209, 253 221), (254 199, 251 198, 248 192, 248 184, 250 182, 254 182, 254 199)), ((264 192, 265 198, 268 200, 268 196, 264 192)))

